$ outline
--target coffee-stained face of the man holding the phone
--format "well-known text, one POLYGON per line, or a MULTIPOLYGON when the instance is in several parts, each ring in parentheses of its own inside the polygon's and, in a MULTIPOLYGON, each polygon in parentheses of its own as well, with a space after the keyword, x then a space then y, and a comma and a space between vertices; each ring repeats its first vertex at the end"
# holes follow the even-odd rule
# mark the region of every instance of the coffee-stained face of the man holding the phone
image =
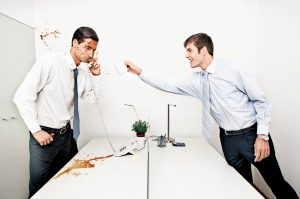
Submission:
POLYGON ((83 42, 78 44, 77 40, 74 40, 73 47, 75 49, 75 56, 80 62, 89 63, 93 61, 93 56, 95 50, 97 49, 97 44, 93 39, 85 39, 83 42))

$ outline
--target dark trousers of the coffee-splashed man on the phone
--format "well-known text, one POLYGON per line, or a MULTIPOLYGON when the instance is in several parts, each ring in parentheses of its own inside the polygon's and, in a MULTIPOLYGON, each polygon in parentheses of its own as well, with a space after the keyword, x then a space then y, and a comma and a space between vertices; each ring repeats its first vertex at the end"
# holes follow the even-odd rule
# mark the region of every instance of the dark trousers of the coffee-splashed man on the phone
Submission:
POLYGON ((30 198, 76 155, 78 149, 73 131, 69 129, 63 135, 54 134, 53 142, 46 146, 41 146, 30 133, 29 151, 30 198))

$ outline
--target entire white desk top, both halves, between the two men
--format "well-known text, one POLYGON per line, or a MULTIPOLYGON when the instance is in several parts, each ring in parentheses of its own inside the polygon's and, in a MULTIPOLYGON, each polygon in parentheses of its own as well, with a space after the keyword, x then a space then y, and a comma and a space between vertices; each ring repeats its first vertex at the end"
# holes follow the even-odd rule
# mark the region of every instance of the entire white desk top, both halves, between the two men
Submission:
MULTIPOLYGON (((112 139, 116 149, 132 139, 112 139)), ((93 168, 75 169, 75 159, 112 154, 106 139, 93 139, 33 199, 256 199, 263 198, 202 139, 178 139, 186 147, 149 143, 135 155, 91 161, 93 168), (57 177, 59 176, 59 177, 57 177), (57 178, 55 178, 57 177, 57 178), (147 180, 149 189, 147 188, 147 180)))

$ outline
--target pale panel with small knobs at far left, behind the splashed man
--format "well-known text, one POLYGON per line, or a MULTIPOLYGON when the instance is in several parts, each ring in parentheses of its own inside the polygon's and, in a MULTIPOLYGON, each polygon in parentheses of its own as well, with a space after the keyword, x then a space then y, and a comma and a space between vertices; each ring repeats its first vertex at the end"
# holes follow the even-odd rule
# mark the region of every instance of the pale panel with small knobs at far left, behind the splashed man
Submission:
POLYGON ((0 198, 19 199, 28 193, 29 132, 12 99, 35 60, 34 30, 2 14, 0 24, 0 198))

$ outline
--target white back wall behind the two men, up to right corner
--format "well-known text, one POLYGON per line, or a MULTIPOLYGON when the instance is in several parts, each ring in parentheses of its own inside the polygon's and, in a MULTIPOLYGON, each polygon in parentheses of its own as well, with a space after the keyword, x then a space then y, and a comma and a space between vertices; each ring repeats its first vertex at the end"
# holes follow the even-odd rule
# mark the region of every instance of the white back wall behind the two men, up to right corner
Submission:
MULTIPOLYGON (((216 57, 233 58, 256 71, 256 1, 84 2, 36 1, 37 28, 61 33, 59 38, 46 38, 48 47, 38 33, 37 55, 49 49, 62 50, 70 46, 71 36, 79 26, 91 26, 98 32, 103 66, 99 104, 111 136, 133 136, 130 125, 136 118, 133 110, 123 105, 128 101, 135 105, 144 119, 149 116, 152 134, 166 133, 167 104, 173 103, 177 107, 171 110, 171 134, 175 137, 200 136, 201 103, 189 97, 157 91, 131 74, 119 76, 113 65, 124 55, 145 70, 164 77, 182 76, 190 72, 184 57, 184 40, 191 34, 206 32, 215 41, 216 57)), ((104 136, 95 106, 81 102, 80 114, 84 132, 79 139, 80 146, 92 137, 104 136)), ((219 143, 217 137, 214 140, 219 143)))

